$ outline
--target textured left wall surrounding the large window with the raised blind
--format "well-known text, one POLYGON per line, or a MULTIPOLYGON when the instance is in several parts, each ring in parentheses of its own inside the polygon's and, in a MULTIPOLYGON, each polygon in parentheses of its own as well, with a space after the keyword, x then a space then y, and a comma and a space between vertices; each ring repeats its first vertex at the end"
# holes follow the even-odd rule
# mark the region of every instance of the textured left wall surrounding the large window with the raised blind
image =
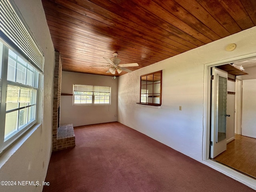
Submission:
MULTIPOLYGON (((41 183, 46 177, 51 155, 54 47, 41 0, 14 0, 14 2, 44 52, 44 78, 38 91, 38 124, 0 156, 0 181, 40 181, 41 183)), ((42 187, 42 184, 37 187, 17 184, 0 186, 0 191, 40 192, 42 187)))

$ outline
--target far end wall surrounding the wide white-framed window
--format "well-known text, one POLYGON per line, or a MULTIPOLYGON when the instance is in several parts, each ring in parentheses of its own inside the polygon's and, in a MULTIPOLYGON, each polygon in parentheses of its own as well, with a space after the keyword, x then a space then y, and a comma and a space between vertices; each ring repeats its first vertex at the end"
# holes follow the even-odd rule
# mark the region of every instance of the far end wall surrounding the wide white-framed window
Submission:
POLYGON ((72 96, 61 96, 60 124, 82 126, 117 121, 118 77, 92 75, 74 72, 62 72, 61 92, 72 93, 73 84, 98 85, 111 87, 111 105, 72 105, 72 96))

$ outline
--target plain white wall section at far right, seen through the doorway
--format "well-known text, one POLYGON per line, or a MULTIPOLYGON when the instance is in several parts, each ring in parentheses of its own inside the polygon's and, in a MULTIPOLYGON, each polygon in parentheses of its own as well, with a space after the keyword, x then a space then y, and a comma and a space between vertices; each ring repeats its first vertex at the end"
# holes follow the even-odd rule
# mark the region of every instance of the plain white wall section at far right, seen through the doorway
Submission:
POLYGON ((256 79, 242 81, 242 135, 256 138, 256 79))

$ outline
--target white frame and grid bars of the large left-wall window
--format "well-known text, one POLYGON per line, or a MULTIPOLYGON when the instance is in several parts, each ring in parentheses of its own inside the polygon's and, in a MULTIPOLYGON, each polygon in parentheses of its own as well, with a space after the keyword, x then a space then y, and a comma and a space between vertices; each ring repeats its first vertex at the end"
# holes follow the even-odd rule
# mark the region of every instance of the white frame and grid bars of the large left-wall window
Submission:
MULTIPOLYGON (((34 66, 30 65, 30 67, 32 67, 34 69, 34 71, 37 73, 36 76, 34 75, 33 86, 8 80, 9 50, 12 50, 12 52, 14 52, 18 57, 20 57, 22 60, 24 60, 27 63, 27 66, 26 66, 27 70, 28 70, 29 62, 26 59, 22 58, 19 54, 17 54, 17 52, 14 50, 14 48, 12 48, 7 42, 3 41, 2 39, 0 39, 0 41, 3 44, 2 60, 0 61, 1 65, 2 65, 2 74, 0 76, 1 77, 0 78, 0 122, 4 122, 4 123, 0 124, 0 153, 1 153, 8 146, 10 146, 12 143, 14 143, 18 138, 20 138, 25 132, 27 132, 30 128, 32 128, 32 126, 34 124, 36 124, 36 122, 37 122, 39 72, 34 66), (36 80, 35 80, 35 78, 36 78, 36 80), (22 107, 18 106, 17 108, 6 110, 8 86, 16 86, 21 89, 25 88, 25 89, 30 89, 30 90, 36 90, 36 96, 34 97, 34 100, 35 100, 34 104, 30 104, 30 105, 26 105, 26 106, 22 106, 22 107), (27 108, 27 110, 29 111, 29 109, 31 109, 30 107, 32 107, 32 106, 36 106, 34 109, 34 118, 30 122, 27 122, 27 123, 23 124, 22 126, 19 126, 20 110, 27 108), (10 135, 6 136, 6 138, 5 138, 6 114, 15 112, 15 111, 17 111, 17 113, 18 113, 17 122, 16 122, 17 130, 14 131, 13 133, 11 133, 10 135)), ((16 60, 16 62, 17 61, 18 61, 18 59, 16 60)), ((18 70, 17 66, 15 67, 15 70, 16 71, 18 70)), ((27 72, 26 72, 26 75, 27 75, 27 72)), ((26 81, 27 81, 27 79, 26 79, 26 81)), ((27 111, 27 113, 28 113, 27 116, 29 115, 28 111, 27 111)))

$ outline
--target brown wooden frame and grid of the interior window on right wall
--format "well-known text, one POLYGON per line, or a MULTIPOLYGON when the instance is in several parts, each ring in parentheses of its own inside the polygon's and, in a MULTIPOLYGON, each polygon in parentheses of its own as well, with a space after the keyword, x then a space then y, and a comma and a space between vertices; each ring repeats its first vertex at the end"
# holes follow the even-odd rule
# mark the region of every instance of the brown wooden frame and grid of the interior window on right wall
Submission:
MULTIPOLYGON (((146 89, 146 92, 148 92, 147 89, 146 89)), ((149 93, 147 93, 147 94, 149 95, 149 93)), ((140 76, 140 102, 137 102, 137 104, 150 105, 150 106, 161 106, 162 105, 162 70, 140 76), (156 75, 156 74, 160 74, 160 82, 157 82, 157 83, 154 82, 154 75, 156 75), (152 83, 148 83, 148 79, 150 76, 152 76, 152 78, 153 78, 152 83), (144 80, 142 80, 142 78, 145 78, 145 77, 146 77, 146 84, 142 85, 142 82, 144 81, 144 80), (148 97, 146 97, 146 102, 142 102, 142 94, 144 94, 144 93, 142 93, 142 90, 145 90, 145 89, 142 89, 142 86, 146 85, 146 88, 147 88, 147 85, 151 85, 151 84, 152 84, 152 93, 150 93, 150 94, 152 96, 148 96, 148 97, 152 97, 152 102, 148 102, 148 97), (154 93, 154 85, 155 84, 160 84, 160 92, 159 93, 156 93, 156 92, 154 93), (156 94, 157 94, 157 96, 155 96, 156 94), (153 99, 154 97, 159 97, 159 103, 154 103, 154 99, 153 99)))

